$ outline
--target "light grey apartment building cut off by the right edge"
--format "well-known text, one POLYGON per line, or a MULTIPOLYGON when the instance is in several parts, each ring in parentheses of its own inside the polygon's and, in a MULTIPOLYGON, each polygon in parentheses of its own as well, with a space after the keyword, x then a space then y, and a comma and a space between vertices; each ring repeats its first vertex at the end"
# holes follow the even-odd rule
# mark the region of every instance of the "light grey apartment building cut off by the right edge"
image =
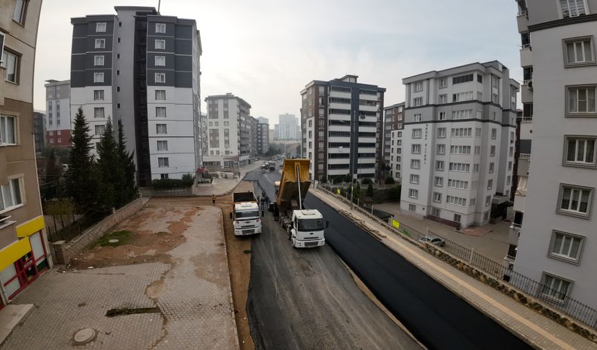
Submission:
POLYGON ((541 281, 543 297, 597 309, 597 0, 518 3, 519 32, 530 38, 521 65, 532 67, 525 85, 534 111, 514 271, 541 281))

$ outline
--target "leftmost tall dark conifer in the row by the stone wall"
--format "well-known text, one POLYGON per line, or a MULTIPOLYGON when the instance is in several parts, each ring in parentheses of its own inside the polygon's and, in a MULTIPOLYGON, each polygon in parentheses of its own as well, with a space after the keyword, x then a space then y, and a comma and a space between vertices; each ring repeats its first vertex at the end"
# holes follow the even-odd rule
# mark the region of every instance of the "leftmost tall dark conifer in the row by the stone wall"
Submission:
POLYGON ((98 178, 94 172, 89 126, 83 109, 78 108, 72 133, 73 146, 70 149, 70 164, 67 172, 67 193, 80 210, 92 208, 97 198, 98 178))

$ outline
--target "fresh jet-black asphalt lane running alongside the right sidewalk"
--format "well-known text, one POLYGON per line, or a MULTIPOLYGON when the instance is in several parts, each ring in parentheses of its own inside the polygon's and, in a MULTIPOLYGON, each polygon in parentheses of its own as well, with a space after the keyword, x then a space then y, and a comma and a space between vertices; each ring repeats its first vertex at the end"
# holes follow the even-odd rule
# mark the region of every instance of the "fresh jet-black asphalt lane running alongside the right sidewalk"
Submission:
MULTIPOLYGON (((262 176, 261 183, 271 185, 270 198, 279 178, 262 176)), ((317 197, 308 194, 305 207, 330 222, 326 244, 428 349, 531 349, 317 197)))

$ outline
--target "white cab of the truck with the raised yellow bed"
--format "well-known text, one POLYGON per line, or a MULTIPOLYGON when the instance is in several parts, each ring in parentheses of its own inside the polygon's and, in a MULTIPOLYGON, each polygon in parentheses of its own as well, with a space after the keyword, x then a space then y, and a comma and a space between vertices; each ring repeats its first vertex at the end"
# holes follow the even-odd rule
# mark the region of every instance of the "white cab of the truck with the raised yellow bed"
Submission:
POLYGON ((292 224, 288 229, 292 247, 309 248, 326 244, 323 215, 319 210, 293 210, 292 224))

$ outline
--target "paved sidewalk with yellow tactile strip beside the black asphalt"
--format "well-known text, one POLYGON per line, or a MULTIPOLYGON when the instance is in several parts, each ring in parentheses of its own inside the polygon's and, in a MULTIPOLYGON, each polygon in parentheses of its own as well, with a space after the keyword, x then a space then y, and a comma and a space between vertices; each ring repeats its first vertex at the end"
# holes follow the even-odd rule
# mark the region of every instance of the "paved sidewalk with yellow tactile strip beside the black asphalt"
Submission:
POLYGON ((502 292, 485 285, 476 279, 454 269, 447 263, 433 258, 425 251, 407 244, 402 238, 396 237, 387 226, 382 226, 352 210, 348 205, 334 199, 321 190, 312 189, 312 194, 337 210, 346 210, 356 219, 362 220, 371 231, 383 233, 376 236, 387 247, 403 256, 412 265, 442 283, 455 294, 459 295, 471 306, 480 310, 494 321, 507 328, 510 332, 525 340, 537 349, 597 349, 597 344, 583 338, 556 324, 539 313, 526 308, 502 292))

